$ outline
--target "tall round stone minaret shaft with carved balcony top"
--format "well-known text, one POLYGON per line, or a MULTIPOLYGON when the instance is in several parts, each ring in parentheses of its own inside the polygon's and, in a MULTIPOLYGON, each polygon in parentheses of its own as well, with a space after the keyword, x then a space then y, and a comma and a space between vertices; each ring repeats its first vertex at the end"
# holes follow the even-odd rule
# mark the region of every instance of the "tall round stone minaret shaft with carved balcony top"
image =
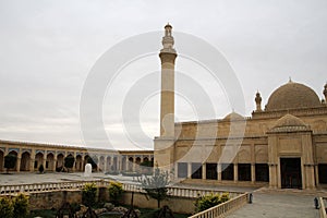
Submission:
POLYGON ((165 26, 162 37, 164 48, 160 50, 161 60, 161 104, 160 104, 160 137, 174 136, 174 60, 171 25, 165 26))

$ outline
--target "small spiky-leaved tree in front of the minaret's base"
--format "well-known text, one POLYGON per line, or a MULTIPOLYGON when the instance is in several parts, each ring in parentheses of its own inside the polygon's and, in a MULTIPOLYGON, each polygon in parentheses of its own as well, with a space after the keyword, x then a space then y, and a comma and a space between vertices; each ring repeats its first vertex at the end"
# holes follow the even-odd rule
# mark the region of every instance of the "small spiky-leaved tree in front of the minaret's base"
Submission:
POLYGON ((170 183, 168 172, 161 172, 156 167, 153 177, 138 178, 138 182, 141 182, 142 189, 149 197, 157 199, 158 208, 160 208, 160 202, 168 197, 168 185, 170 183))

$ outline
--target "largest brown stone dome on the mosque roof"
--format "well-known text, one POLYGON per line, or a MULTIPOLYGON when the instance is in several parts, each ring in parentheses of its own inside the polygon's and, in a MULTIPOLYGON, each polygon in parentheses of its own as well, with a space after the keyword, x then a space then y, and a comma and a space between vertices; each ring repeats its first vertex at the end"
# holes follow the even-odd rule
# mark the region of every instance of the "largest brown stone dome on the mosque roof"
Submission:
POLYGON ((269 97, 265 110, 315 108, 322 106, 319 97, 310 87, 289 82, 277 88, 269 97))

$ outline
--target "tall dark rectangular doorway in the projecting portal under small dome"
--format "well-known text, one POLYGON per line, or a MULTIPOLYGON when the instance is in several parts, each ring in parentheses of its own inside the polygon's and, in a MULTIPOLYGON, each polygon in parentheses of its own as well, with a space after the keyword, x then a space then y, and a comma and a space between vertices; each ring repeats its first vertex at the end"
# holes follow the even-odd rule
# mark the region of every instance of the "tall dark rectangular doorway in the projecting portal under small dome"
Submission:
POLYGON ((280 158, 281 189, 302 189, 301 158, 280 158))

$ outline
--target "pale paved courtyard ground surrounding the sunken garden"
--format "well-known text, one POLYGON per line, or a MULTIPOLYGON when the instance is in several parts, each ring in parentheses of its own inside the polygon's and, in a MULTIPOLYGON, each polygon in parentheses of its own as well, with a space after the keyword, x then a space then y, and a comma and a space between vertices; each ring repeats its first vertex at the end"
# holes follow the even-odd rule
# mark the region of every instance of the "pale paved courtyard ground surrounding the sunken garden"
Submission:
MULTIPOLYGON (((83 173, 12 173, 1 174, 0 185, 31 184, 31 183, 50 183, 68 181, 94 181, 94 180, 117 180, 122 183, 135 183, 135 178, 123 175, 107 175, 104 173, 93 173, 90 177, 84 177, 83 173)), ((174 184, 178 187, 193 187, 219 191, 235 191, 253 193, 253 203, 245 204, 240 209, 233 211, 228 217, 319 217, 318 210, 314 207, 314 197, 326 195, 326 190, 302 191, 302 190, 279 190, 271 191, 266 187, 241 187, 226 185, 203 185, 203 184, 174 184)))

